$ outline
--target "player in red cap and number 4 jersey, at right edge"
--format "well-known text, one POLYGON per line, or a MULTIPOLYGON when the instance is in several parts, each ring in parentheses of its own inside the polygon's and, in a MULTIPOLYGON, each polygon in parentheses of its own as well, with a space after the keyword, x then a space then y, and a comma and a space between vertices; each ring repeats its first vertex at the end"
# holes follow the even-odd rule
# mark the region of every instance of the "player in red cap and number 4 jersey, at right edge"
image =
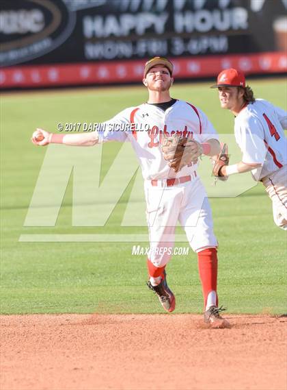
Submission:
POLYGON ((245 75, 236 69, 219 73, 217 84, 221 108, 234 114, 234 135, 243 153, 242 161, 216 167, 215 175, 251 171, 262 182, 273 203, 275 224, 287 230, 287 112, 245 86, 245 75))

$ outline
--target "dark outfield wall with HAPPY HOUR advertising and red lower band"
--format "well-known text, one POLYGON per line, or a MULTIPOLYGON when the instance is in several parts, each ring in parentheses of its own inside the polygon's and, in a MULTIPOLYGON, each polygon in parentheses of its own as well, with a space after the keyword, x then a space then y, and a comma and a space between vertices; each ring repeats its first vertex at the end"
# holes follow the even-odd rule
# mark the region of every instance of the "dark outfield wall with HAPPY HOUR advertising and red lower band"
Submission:
POLYGON ((165 56, 177 79, 287 71, 286 0, 1 0, 0 85, 140 82, 165 56))

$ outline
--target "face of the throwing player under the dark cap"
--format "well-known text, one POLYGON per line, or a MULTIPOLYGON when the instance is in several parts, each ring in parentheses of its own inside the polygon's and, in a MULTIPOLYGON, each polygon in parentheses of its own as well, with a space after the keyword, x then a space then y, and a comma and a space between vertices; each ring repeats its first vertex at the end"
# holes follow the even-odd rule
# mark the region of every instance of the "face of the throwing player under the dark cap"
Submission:
POLYGON ((165 90, 169 90, 173 81, 174 79, 171 77, 165 66, 156 65, 150 68, 146 78, 143 79, 143 84, 146 85, 149 90, 163 92, 165 90))

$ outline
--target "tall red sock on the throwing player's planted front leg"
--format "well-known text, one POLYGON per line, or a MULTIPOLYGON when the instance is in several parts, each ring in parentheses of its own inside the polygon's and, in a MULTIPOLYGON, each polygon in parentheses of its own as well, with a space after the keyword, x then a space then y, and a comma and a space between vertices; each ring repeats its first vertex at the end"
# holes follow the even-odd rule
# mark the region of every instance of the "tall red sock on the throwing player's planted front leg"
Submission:
MULTIPOLYGON (((197 253, 197 258, 205 308, 208 293, 210 293, 210 291, 217 292, 217 249, 204 249, 197 253)), ((218 305, 218 297, 216 304, 218 305)))

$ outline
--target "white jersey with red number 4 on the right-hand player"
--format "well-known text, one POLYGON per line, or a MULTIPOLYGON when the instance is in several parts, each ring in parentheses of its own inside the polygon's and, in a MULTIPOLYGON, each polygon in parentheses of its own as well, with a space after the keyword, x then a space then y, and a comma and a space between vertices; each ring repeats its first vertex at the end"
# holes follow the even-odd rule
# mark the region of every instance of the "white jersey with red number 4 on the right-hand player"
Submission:
POLYGON ((234 134, 243 162, 262 165, 251 171, 255 180, 287 164, 287 138, 283 129, 287 129, 287 112, 263 99, 249 103, 235 118, 234 134))

